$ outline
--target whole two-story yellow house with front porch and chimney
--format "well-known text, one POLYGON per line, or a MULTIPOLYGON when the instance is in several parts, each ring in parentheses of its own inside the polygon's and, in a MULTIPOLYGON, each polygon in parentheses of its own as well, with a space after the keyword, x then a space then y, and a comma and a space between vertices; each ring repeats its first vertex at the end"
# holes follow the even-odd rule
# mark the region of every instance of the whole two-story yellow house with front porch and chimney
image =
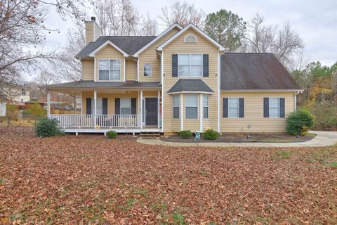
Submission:
POLYGON ((76 58, 81 81, 46 86, 81 96, 81 115, 49 115, 70 132, 284 132, 302 91, 271 53, 225 53, 193 24, 100 36, 92 18, 76 58))

